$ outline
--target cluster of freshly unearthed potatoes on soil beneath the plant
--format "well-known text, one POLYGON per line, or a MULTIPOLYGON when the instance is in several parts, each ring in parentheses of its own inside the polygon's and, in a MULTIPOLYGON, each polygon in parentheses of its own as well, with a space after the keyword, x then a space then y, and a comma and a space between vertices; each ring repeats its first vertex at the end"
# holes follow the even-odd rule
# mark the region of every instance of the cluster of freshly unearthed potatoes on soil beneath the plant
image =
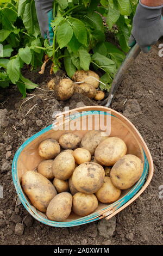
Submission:
POLYGON ((52 79, 48 82, 47 86, 49 90, 55 91, 55 95, 60 101, 70 99, 73 93, 83 94, 90 99, 103 100, 105 94, 101 90, 97 90, 99 82, 93 77, 98 81, 100 79, 99 76, 91 70, 78 70, 72 77, 72 80, 65 78, 55 84, 55 81, 52 79))

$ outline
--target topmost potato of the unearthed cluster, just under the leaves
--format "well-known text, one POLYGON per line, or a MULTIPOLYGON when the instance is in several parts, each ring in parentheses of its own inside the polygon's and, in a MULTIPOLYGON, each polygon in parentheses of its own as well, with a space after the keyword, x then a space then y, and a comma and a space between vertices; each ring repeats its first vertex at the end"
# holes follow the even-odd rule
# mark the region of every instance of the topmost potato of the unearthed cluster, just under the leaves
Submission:
POLYGON ((98 88, 99 82, 95 78, 92 78, 90 76, 95 77, 98 80, 100 79, 99 76, 91 70, 89 70, 89 71, 78 70, 73 75, 72 80, 75 82, 83 82, 84 81, 85 83, 89 83, 89 84, 91 84, 91 86, 98 88), (90 78, 88 78, 88 77, 90 77, 90 78))

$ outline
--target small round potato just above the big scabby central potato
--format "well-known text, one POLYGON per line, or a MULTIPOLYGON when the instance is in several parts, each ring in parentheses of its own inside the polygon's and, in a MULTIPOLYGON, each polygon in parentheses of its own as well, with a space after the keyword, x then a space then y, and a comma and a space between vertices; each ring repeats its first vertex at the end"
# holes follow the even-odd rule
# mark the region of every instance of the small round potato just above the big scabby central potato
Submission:
POLYGON ((81 164, 91 161, 91 154, 87 149, 78 148, 73 151, 73 157, 76 163, 81 164))

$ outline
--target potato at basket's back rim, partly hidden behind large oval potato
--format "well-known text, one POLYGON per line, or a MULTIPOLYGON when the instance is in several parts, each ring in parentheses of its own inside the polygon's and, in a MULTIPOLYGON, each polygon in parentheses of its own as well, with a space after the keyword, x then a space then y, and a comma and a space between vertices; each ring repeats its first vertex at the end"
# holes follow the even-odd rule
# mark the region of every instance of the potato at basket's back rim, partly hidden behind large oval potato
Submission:
POLYGON ((89 131, 87 132, 80 143, 80 147, 90 151, 91 155, 94 155, 95 149, 98 144, 108 138, 105 132, 102 131, 89 131))

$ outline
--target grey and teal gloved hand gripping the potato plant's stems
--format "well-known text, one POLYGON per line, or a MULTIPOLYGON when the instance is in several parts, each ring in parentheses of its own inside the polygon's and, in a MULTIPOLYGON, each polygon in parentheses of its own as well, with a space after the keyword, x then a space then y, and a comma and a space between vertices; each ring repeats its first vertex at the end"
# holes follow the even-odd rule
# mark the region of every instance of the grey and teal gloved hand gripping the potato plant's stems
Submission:
POLYGON ((41 35, 48 39, 49 45, 53 44, 53 0, 35 0, 37 19, 39 21, 41 35))

